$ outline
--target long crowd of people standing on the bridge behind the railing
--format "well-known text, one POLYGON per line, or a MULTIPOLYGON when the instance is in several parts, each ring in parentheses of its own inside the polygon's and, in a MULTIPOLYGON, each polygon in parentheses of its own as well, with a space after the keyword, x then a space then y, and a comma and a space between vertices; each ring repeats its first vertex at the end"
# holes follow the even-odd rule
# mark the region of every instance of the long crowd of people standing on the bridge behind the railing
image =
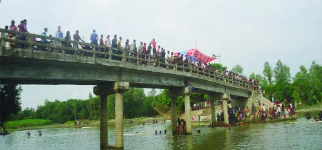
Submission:
MULTIPOLYGON (((27 29, 26 19, 20 21, 20 24, 18 26, 15 26, 15 21, 12 20, 11 25, 6 26, 5 29, 19 32, 29 32, 27 29)), ((41 35, 44 37, 53 37, 53 35, 50 35, 48 33, 48 28, 44 28, 44 32, 41 32, 41 35)), ((8 34, 5 36, 8 39, 20 39, 23 41, 30 40, 28 39, 30 37, 27 37, 26 35, 8 34)), ((126 39, 125 44, 122 44, 122 37, 117 38, 117 35, 113 35, 113 39, 110 39, 111 36, 106 35, 106 38, 104 39, 104 35, 101 34, 99 37, 99 35, 97 35, 96 33, 96 30, 93 30, 93 32, 91 33, 90 40, 91 44, 94 44, 96 46, 88 46, 88 44, 75 44, 75 42, 73 42, 85 42, 84 37, 81 37, 79 35, 79 30, 75 30, 72 41, 70 31, 66 31, 66 35, 64 36, 64 32, 61 30, 61 26, 57 26, 55 37, 60 40, 53 41, 53 38, 49 38, 49 40, 46 38, 40 38, 41 40, 37 40, 36 37, 33 37, 32 41, 35 41, 35 43, 55 45, 57 47, 70 47, 65 48, 65 50, 63 47, 59 48, 59 53, 66 54, 77 53, 77 55, 93 56, 93 53, 87 51, 95 49, 97 51, 102 52, 95 54, 95 57, 115 59, 120 61, 124 59, 123 53, 126 53, 127 62, 138 63, 142 65, 162 66, 178 71, 199 73, 209 77, 215 77, 216 75, 217 77, 220 76, 220 79, 225 80, 226 82, 229 82, 228 79, 236 79, 245 84, 249 84, 250 87, 254 89, 259 89, 259 84, 254 79, 247 79, 247 77, 244 77, 243 75, 238 75, 237 73, 231 71, 220 71, 218 68, 211 66, 210 63, 201 63, 198 60, 192 61, 191 57, 186 57, 180 53, 178 53, 178 55, 174 55, 173 52, 170 53, 169 50, 165 50, 165 48, 158 45, 155 39, 152 39, 150 42, 140 41, 140 44, 138 45, 135 39, 133 39, 133 42, 131 44, 130 40, 126 39), (72 50, 72 47, 76 47, 78 50, 72 50), (84 52, 84 50, 79 49, 86 49, 86 51, 84 52), (110 50, 111 53, 109 53, 110 50), (111 56, 109 56, 110 54, 111 56)), ((28 44, 16 44, 14 42, 6 42, 6 48, 27 48, 27 46, 28 44)), ((34 46, 34 49, 42 51, 53 51, 53 47, 50 46, 34 46)))

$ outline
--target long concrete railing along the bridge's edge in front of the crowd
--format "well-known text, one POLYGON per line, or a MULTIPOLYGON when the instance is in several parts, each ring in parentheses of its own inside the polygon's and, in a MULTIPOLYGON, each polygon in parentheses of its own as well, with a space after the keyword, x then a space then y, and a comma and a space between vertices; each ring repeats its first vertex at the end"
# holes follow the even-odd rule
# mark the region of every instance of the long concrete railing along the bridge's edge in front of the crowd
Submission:
POLYGON ((92 57, 93 59, 109 59, 122 61, 124 62, 124 65, 131 63, 167 68, 176 72, 191 73, 198 77, 209 77, 221 84, 230 84, 231 86, 238 86, 241 88, 256 89, 256 86, 249 84, 249 82, 245 82, 243 79, 219 73, 211 68, 203 68, 186 62, 176 62, 171 59, 143 54, 134 50, 111 48, 108 46, 88 44, 81 41, 59 39, 56 37, 17 32, 2 28, 0 28, 0 32, 1 55, 3 55, 3 50, 21 48, 30 51, 30 53, 39 53, 40 51, 43 51, 46 53, 61 53, 62 55, 92 57), (14 36, 10 37, 8 35, 14 36))

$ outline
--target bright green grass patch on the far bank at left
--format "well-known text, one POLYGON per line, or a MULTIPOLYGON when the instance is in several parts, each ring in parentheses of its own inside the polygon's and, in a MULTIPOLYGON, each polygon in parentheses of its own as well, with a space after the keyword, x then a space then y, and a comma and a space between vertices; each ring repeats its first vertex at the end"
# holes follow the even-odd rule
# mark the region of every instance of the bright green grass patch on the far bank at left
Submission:
POLYGON ((30 126, 44 126, 52 124, 50 120, 40 120, 40 119, 26 119, 26 120, 14 120, 6 122, 5 126, 7 129, 18 129, 30 126))

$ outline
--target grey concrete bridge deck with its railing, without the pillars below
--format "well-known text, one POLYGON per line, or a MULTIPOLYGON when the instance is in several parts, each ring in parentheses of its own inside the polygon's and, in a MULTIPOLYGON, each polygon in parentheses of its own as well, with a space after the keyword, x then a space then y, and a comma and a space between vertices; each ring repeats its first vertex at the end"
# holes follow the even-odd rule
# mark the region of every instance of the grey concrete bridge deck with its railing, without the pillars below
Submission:
POLYGON ((216 71, 182 62, 167 63, 170 60, 153 55, 25 32, 0 31, 1 84, 96 85, 124 81, 130 82, 132 87, 176 88, 184 87, 184 80, 189 79, 199 91, 231 93, 241 97, 249 97, 253 88, 247 82, 216 71), (4 38, 5 33, 27 36, 30 40, 7 39, 4 38), (73 47, 39 43, 32 41, 33 37, 52 40, 54 43, 60 41, 64 45, 70 43, 73 47), (6 42, 25 46, 6 48, 6 42))

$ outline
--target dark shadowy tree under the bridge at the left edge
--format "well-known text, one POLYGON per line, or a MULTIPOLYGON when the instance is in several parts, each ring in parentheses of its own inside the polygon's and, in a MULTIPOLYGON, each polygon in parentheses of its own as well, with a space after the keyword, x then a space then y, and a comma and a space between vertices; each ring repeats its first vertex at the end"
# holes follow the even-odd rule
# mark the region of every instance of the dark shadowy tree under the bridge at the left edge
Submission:
POLYGON ((0 85, 0 126, 8 120, 10 114, 21 111, 20 93, 21 86, 16 84, 0 85))

